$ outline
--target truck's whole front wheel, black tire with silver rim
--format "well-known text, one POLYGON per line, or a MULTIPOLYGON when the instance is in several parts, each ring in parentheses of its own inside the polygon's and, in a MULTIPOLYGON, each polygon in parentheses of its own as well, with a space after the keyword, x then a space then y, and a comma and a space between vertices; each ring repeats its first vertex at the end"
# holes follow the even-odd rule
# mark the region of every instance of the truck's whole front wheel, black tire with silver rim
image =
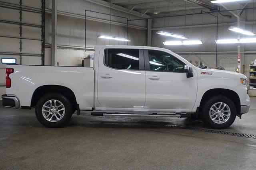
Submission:
POLYGON ((202 107, 202 120, 212 129, 226 129, 236 119, 236 106, 225 96, 212 96, 202 107))

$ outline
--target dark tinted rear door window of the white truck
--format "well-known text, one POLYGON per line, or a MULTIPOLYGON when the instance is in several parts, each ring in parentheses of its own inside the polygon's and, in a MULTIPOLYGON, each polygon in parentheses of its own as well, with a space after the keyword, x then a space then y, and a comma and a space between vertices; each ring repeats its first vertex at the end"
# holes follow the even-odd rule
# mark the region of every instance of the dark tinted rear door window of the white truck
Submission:
POLYGON ((138 70, 139 50, 137 49, 106 49, 106 66, 117 69, 138 70))

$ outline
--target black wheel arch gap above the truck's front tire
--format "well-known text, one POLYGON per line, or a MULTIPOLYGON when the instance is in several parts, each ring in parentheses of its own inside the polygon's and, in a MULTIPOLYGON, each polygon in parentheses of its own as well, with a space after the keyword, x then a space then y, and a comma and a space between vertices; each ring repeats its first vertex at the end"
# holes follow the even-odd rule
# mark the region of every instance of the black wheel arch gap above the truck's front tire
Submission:
POLYGON ((212 96, 216 96, 216 95, 223 95, 223 96, 226 96, 227 98, 229 98, 230 100, 232 100, 232 102, 236 106, 236 114, 240 115, 241 103, 240 103, 240 98, 239 98, 238 94, 236 92, 234 92, 233 90, 224 89, 224 88, 214 88, 214 89, 210 89, 210 90, 206 91, 204 93, 204 95, 202 96, 200 106, 199 106, 199 112, 202 110, 202 106, 204 105, 204 102, 206 102, 206 100, 208 98, 210 98, 212 96))

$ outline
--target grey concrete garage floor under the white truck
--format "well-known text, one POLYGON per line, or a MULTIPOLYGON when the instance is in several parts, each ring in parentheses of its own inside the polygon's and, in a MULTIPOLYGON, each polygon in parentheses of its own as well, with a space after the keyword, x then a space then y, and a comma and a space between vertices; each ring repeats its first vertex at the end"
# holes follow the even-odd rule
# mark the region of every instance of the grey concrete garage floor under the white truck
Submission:
MULTIPOLYGON (((0 106, 0 169, 256 169, 256 139, 83 114, 50 129, 34 110, 0 106)), ((207 128, 189 118, 139 119, 207 128)), ((223 131, 256 135, 256 98, 223 131)))

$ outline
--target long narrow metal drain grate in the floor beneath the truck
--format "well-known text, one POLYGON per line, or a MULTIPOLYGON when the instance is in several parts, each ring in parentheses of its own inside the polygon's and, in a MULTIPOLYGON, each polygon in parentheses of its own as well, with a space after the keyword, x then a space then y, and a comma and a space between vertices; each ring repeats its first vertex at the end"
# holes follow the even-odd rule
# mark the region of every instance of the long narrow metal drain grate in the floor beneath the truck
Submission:
MULTIPOLYGON (((91 116, 91 115, 86 115, 86 116, 91 116)), ((98 117, 98 116, 92 116, 92 117, 98 117)), ((197 127, 186 127, 182 125, 174 125, 174 124, 154 122, 154 121, 144 121, 144 120, 138 120, 138 119, 125 118, 125 117, 102 116, 100 118, 112 119, 112 120, 124 121, 124 122, 143 123, 146 125, 159 125, 162 127, 174 127, 179 129, 188 129, 192 131, 201 131, 201 132, 208 132, 208 133, 217 133, 221 135, 230 135, 230 136, 236 136, 236 137, 246 137, 246 138, 256 139, 256 135, 250 135, 250 134, 244 134, 244 133, 233 133, 233 132, 225 132, 225 131, 197 128, 197 127)))

